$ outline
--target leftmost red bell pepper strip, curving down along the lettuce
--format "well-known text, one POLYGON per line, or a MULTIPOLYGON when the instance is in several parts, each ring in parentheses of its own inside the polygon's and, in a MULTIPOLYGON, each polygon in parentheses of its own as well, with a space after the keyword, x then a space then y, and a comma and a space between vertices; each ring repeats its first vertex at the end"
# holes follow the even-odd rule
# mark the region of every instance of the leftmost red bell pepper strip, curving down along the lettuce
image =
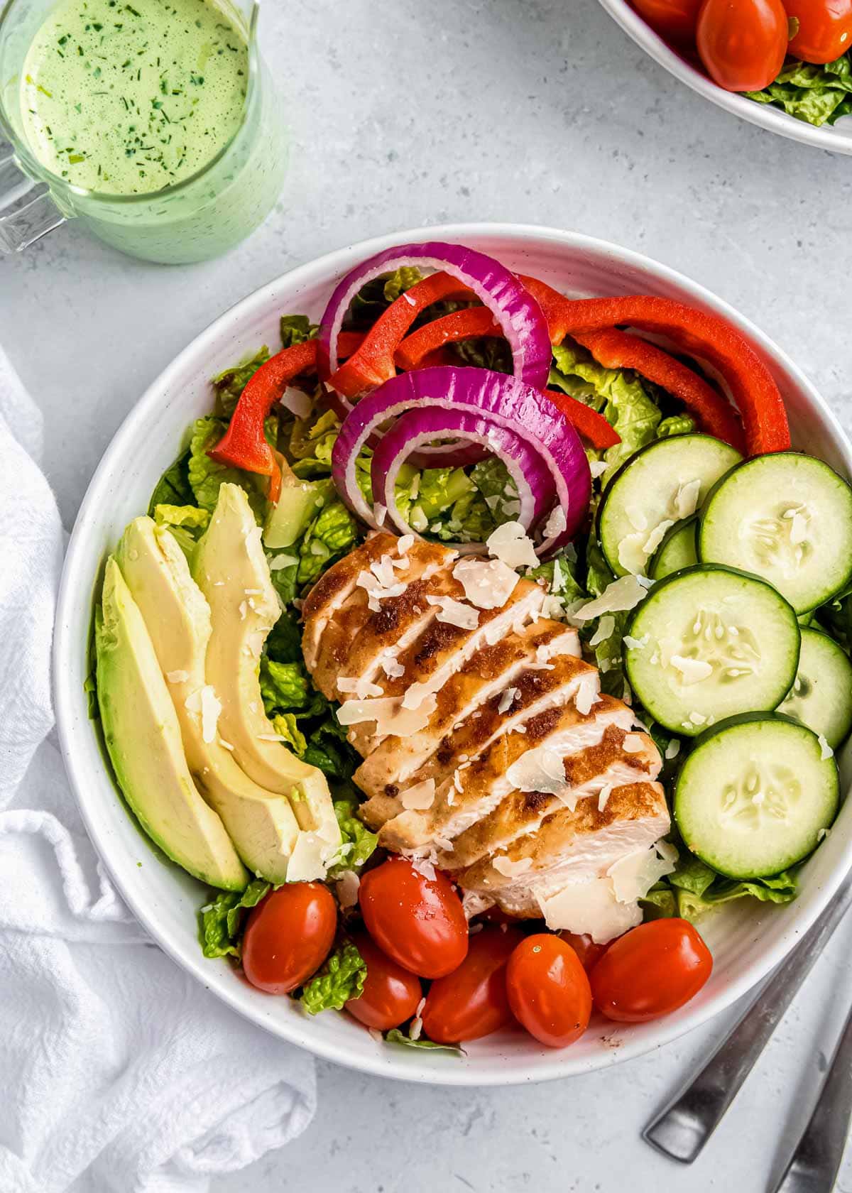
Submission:
MULTIPOLYGON (((342 332, 340 335, 341 356, 354 352, 364 336, 357 332, 342 332)), ((282 489, 282 474, 278 460, 264 434, 264 421, 276 402, 280 398, 294 377, 316 370, 316 340, 303 340, 276 353, 258 369, 240 395, 236 409, 215 447, 208 456, 218 464, 229 464, 247 472, 258 472, 270 477, 268 497, 278 501, 282 489)))

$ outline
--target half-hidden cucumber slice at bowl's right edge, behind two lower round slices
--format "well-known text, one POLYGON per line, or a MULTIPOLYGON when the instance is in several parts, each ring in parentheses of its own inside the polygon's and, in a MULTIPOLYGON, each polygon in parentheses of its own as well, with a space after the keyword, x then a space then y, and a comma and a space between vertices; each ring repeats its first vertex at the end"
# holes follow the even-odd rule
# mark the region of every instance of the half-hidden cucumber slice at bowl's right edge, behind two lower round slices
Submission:
POLYGON ((832 749, 852 729, 852 663, 827 633, 802 630, 798 672, 778 711, 821 734, 832 749))

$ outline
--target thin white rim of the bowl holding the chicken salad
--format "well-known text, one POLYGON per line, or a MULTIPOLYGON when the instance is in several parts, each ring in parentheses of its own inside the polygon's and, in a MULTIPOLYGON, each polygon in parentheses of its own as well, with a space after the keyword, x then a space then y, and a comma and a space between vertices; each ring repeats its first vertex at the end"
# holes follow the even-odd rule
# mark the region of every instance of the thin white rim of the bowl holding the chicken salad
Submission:
MULTIPOLYGON (((149 909, 129 894, 122 880, 122 873, 111 864, 110 849, 105 842, 104 835, 100 833, 99 823, 97 816, 94 815, 94 808, 91 808, 87 804, 87 767, 76 756, 74 733, 72 730, 74 721, 74 704, 79 704, 82 698, 80 692, 76 691, 75 685, 72 682, 70 668, 61 666, 61 662, 66 657, 72 657, 72 650, 74 647, 79 647, 79 643, 72 641, 70 619, 64 616, 64 610, 66 606, 72 605, 75 591, 91 589, 92 558, 89 557, 87 550, 87 538, 92 533, 92 527, 97 526, 98 523, 98 508, 103 495, 101 488, 105 488, 106 486, 106 478, 113 466, 113 458, 123 458, 132 443, 136 441, 138 428, 146 424, 150 413, 161 401, 161 390, 166 388, 168 378, 173 373, 179 373, 184 359, 195 353, 202 344, 215 341, 220 333, 227 328, 233 320, 248 317, 255 309, 263 308, 264 303, 268 302, 270 296, 273 295, 284 278, 288 279, 292 288, 296 288, 300 284, 309 284, 315 273, 323 277, 334 276, 341 270, 351 268, 358 260, 394 245, 422 242, 428 240, 464 242, 465 240, 475 237, 489 237, 492 240, 506 237, 512 239, 515 242, 518 240, 527 240, 538 243, 558 243, 574 249, 587 248, 592 252, 604 253, 612 256, 619 265, 634 267, 646 273, 652 273, 656 280, 668 280, 686 289, 698 304, 703 304, 709 309, 715 310, 723 317, 729 319, 736 327, 743 329, 752 339, 753 344, 755 344, 770 359, 784 367, 791 375, 799 389, 807 394, 809 401, 820 410, 823 419, 832 428, 835 443, 845 453, 847 468, 852 472, 852 445, 846 439, 838 420, 827 407, 823 398, 819 395, 801 370, 794 364, 794 361, 786 356, 786 353, 774 345, 770 338, 760 332, 760 329, 757 328, 749 320, 740 315, 733 307, 723 299, 717 298, 704 286, 692 282, 678 271, 654 261, 641 253, 636 253, 632 249, 621 248, 609 241, 586 236, 580 233, 572 233, 558 228, 549 228, 537 224, 481 222, 436 224, 431 227, 401 230, 399 233, 372 237, 370 240, 360 241, 335 249, 331 253, 326 253, 322 256, 314 258, 313 260, 296 266, 292 270, 288 270, 284 274, 270 280, 253 293, 247 295, 245 298, 234 303, 204 330, 202 330, 148 387, 143 396, 130 409, 129 414, 116 432, 112 441, 107 446, 80 506, 80 511, 69 538, 62 579, 60 582, 53 644, 53 690, 57 735, 62 756, 70 779, 72 790, 76 797, 86 829, 101 861, 106 866, 117 889, 130 907, 134 915, 147 928, 159 946, 168 956, 171 956, 173 960, 175 960, 198 982, 200 982, 202 985, 215 993, 228 1006, 245 1018, 255 1022, 258 1026, 271 1031, 273 1034, 304 1047, 323 1059, 342 1064, 347 1068, 400 1081, 416 1081, 438 1086, 505 1086, 523 1084, 531 1081, 551 1081, 558 1077, 606 1068, 610 1064, 621 1063, 622 1061, 641 1056, 662 1044, 677 1039, 692 1028, 698 1027, 700 1024, 706 1022, 714 1015, 720 1014, 727 1007, 731 1006, 737 999, 760 982, 761 978, 764 978, 772 969, 774 969, 795 946, 801 935, 807 932, 814 920, 816 920, 840 886, 845 874, 850 869, 852 869, 852 837, 850 837, 844 848, 842 864, 838 865, 835 870, 822 880, 821 885, 810 896, 809 902, 804 904, 797 901, 789 909, 786 909, 788 914, 785 917, 785 927, 776 944, 755 958, 753 963, 745 966, 743 972, 737 978, 731 981, 718 993, 716 997, 708 1000, 703 1006, 692 1008, 687 1006, 675 1015, 656 1020, 653 1025, 643 1025, 646 1028, 652 1027, 653 1030, 644 1033, 638 1039, 629 1037, 621 1044, 619 1047, 601 1049, 599 1053, 587 1058, 578 1058, 576 1056, 572 1057, 572 1050, 567 1049, 555 1051, 552 1061, 537 1063, 535 1074, 525 1075, 523 1070, 517 1071, 512 1068, 507 1068, 499 1073, 489 1071, 486 1075, 477 1076, 467 1068, 434 1068, 431 1063, 434 1058, 434 1053, 430 1053, 427 1051, 421 1052, 419 1050, 415 1052, 413 1049, 400 1050, 405 1051, 406 1056, 400 1057, 399 1059, 387 1055, 390 1051, 389 1049, 383 1050, 381 1055, 377 1053, 375 1061, 372 1061, 371 1057, 364 1056, 353 1058, 347 1053, 346 1049, 340 1047, 337 1044, 329 1044, 322 1039, 314 1039, 310 1031, 307 1030, 307 1021, 304 1026, 302 1026, 301 1021, 290 1024, 270 1024, 263 1016, 259 1007, 255 1008, 254 1006, 245 1006, 240 1003, 231 988, 221 985, 217 982, 217 975, 211 972, 210 962, 203 957, 200 948, 197 950, 197 956, 195 953, 190 956, 175 945, 174 941, 168 939, 167 934, 162 931, 162 926, 159 925, 149 914, 149 909), (786 923, 786 920, 789 920, 789 923, 786 923), (412 1058, 412 1053, 414 1052, 418 1058, 416 1063, 413 1063, 412 1058)), ((613 1025, 613 1027, 618 1026, 619 1025, 613 1025)))

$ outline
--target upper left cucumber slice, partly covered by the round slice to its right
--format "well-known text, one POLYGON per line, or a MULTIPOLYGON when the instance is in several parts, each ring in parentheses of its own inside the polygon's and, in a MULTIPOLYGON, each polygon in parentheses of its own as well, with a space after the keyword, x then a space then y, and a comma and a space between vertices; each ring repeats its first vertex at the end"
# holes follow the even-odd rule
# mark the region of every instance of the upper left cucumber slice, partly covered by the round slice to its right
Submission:
POLYGON ((657 439, 631 456, 598 509, 598 540, 613 573, 644 574, 666 531, 693 514, 741 458, 712 435, 657 439))

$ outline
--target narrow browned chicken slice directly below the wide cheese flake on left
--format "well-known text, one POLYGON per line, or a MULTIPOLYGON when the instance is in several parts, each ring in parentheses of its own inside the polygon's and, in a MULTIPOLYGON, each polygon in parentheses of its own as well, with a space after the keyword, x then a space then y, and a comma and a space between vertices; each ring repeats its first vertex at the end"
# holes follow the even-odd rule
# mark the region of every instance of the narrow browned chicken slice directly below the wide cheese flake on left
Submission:
POLYGON ((493 696, 510 691, 520 673, 536 662, 539 649, 548 659, 579 657, 580 639, 576 630, 562 622, 539 618, 493 645, 481 647, 436 692, 434 712, 420 733, 407 737, 391 735, 373 747, 354 773, 362 791, 368 796, 397 796, 452 727, 493 696))

